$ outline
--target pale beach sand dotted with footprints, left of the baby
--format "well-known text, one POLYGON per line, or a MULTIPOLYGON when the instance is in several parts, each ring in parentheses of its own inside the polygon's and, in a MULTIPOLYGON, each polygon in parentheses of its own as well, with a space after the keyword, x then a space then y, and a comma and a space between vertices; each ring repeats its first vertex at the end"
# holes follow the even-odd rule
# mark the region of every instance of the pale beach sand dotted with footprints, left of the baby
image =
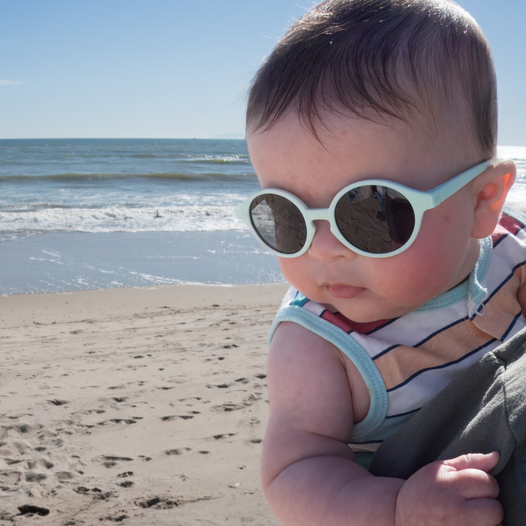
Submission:
POLYGON ((259 459, 286 288, 1 297, 0 525, 277 526, 259 459))

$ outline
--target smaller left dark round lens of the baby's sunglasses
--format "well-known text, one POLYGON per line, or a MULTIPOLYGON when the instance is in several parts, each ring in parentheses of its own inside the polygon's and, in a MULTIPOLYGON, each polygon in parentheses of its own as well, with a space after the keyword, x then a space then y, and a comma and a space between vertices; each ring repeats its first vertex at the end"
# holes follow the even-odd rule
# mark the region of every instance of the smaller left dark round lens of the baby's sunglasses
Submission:
POLYGON ((263 194, 250 204, 252 226, 266 244, 282 252, 295 254, 307 239, 307 225, 298 207, 286 197, 263 194))

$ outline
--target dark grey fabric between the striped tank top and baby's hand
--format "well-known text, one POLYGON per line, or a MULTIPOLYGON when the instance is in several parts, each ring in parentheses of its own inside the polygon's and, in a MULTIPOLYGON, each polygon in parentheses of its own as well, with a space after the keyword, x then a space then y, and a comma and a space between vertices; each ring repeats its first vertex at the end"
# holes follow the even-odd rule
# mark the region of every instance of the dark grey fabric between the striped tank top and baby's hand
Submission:
POLYGON ((435 460, 500 452, 504 526, 526 525, 526 329, 463 371, 385 440, 369 471, 409 478, 435 460))

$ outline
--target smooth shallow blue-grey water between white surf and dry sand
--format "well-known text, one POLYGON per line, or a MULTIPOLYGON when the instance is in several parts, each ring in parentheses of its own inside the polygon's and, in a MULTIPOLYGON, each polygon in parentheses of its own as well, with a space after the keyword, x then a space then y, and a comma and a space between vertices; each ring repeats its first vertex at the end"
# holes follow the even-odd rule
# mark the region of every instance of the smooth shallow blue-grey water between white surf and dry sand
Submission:
POLYGON ((276 256, 237 230, 44 232, 0 249, 0 295, 284 279, 276 256))

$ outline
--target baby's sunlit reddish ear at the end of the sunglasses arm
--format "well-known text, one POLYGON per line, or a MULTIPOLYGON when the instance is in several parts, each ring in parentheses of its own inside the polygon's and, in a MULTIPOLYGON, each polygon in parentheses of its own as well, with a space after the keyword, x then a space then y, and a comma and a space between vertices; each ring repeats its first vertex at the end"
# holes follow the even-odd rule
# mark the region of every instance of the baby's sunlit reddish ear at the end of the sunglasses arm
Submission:
POLYGON ((517 168, 513 161, 499 161, 473 181, 477 205, 473 210, 471 237, 482 239, 493 233, 516 175, 517 168))

